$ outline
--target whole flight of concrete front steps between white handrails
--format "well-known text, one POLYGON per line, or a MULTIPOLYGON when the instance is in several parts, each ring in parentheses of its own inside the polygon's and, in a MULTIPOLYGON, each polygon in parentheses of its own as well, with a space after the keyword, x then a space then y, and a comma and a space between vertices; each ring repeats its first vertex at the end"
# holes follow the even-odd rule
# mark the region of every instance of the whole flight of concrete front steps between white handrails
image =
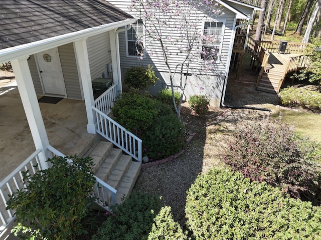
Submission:
POLYGON ((116 203, 121 203, 124 196, 129 197, 141 162, 133 161, 121 149, 114 148, 111 142, 101 140, 86 152, 87 155, 93 158, 95 175, 117 190, 116 203))

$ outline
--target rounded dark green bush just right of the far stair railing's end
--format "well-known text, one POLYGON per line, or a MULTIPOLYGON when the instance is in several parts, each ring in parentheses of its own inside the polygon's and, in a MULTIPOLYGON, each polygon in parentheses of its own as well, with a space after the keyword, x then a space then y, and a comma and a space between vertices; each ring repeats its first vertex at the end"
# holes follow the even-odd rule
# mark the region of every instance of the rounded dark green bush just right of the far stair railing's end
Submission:
POLYGON ((158 116, 142 136, 143 153, 150 160, 179 152, 184 145, 184 125, 174 114, 158 116))

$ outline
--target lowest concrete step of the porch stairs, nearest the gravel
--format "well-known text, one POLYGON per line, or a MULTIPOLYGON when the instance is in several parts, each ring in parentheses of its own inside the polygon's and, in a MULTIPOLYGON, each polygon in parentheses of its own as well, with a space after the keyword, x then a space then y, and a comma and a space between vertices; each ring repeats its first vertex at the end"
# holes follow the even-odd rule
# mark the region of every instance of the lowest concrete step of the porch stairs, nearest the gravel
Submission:
POLYGON ((141 162, 131 161, 128 171, 126 172, 122 182, 116 193, 116 202, 119 204, 125 198, 129 197, 132 188, 135 185, 137 177, 140 173, 141 162))

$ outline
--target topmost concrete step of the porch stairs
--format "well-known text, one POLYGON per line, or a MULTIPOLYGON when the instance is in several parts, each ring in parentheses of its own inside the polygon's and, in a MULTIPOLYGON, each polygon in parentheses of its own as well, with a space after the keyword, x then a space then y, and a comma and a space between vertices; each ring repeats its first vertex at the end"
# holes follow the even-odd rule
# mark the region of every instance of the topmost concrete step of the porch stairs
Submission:
POLYGON ((93 146, 90 151, 87 152, 87 155, 93 158, 94 166, 93 172, 97 172, 100 165, 102 164, 103 159, 109 154, 112 149, 112 143, 109 141, 98 141, 95 146, 93 146))

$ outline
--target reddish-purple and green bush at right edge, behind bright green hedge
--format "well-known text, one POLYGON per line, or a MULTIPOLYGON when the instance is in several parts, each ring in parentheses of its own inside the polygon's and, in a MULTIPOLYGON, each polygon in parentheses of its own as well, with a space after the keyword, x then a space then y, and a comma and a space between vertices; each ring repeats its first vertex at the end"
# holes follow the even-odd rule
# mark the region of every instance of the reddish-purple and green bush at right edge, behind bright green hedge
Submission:
POLYGON ((282 187, 293 197, 320 203, 321 164, 318 144, 285 124, 255 122, 240 126, 224 162, 251 180, 282 187))

